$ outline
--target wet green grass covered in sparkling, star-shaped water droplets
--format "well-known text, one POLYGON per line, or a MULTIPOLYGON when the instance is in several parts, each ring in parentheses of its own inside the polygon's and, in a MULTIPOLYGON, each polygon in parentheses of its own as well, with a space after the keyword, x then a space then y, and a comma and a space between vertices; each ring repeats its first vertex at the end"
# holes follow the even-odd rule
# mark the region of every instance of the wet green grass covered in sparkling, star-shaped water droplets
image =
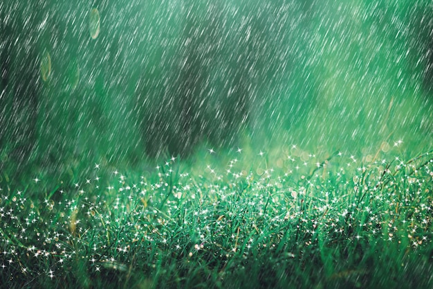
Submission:
POLYGON ((242 153, 225 168, 208 153, 140 173, 95 164, 14 183, 0 172, 0 284, 432 287, 433 151, 300 152, 275 167, 242 153))

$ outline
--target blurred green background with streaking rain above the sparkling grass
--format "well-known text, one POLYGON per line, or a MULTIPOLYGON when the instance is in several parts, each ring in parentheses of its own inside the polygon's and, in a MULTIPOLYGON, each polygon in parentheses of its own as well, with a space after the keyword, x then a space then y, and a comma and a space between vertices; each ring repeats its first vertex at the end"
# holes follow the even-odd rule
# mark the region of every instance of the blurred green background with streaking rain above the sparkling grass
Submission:
POLYGON ((0 170, 432 145, 430 1, 0 3, 0 170))

